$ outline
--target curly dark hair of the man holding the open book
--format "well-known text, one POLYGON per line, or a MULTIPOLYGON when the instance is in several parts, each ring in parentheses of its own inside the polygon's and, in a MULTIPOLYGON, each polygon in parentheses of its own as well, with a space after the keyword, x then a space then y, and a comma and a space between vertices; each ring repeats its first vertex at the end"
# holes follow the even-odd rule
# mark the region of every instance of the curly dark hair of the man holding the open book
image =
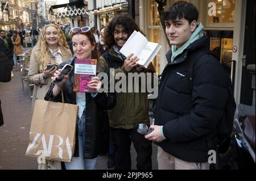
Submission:
MULTIPOLYGON (((131 36, 134 30, 141 32, 139 26, 135 23, 135 20, 133 18, 130 18, 130 16, 123 14, 114 16, 112 21, 109 23, 109 26, 106 27, 106 33, 104 36, 104 44, 109 49, 112 48, 113 45, 115 45, 114 29, 117 25, 122 26, 128 32, 128 37, 131 36)), ((143 32, 141 33, 143 34, 143 32)))

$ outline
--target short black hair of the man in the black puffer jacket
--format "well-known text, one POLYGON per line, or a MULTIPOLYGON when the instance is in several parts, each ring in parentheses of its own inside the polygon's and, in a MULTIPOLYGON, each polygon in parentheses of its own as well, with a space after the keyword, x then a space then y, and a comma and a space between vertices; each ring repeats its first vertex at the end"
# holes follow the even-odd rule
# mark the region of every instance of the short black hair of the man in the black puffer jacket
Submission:
POLYGON ((198 20, 199 12, 196 6, 187 1, 178 1, 169 6, 167 11, 164 12, 164 20, 171 20, 172 22, 177 19, 187 19, 189 24, 194 20, 198 20))

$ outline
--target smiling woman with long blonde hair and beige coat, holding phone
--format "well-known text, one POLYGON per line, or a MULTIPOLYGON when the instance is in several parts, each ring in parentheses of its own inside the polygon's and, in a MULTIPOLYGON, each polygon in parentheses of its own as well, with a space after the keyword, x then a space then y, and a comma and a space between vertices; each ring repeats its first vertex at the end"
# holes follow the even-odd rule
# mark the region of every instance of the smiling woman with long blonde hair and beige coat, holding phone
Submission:
POLYGON ((36 99, 44 100, 44 96, 51 85, 51 77, 56 67, 47 70, 48 64, 56 66, 72 58, 71 50, 65 36, 56 24, 47 24, 43 27, 38 43, 32 50, 28 81, 34 84, 32 109, 36 99))

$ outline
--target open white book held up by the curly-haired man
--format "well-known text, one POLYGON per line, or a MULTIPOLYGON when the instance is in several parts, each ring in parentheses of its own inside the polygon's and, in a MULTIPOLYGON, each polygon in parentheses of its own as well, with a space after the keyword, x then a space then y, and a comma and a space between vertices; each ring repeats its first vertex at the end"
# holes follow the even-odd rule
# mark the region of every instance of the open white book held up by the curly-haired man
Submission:
POLYGON ((134 31, 119 52, 126 57, 134 53, 133 57, 139 58, 137 64, 147 68, 161 48, 158 43, 148 41, 141 32, 134 31))

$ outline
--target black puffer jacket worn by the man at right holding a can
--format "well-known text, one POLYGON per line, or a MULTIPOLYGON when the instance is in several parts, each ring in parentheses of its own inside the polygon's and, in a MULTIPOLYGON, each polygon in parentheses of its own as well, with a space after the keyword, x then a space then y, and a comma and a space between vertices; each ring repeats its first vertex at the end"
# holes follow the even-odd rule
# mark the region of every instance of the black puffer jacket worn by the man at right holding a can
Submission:
POLYGON ((216 148, 218 121, 228 97, 227 79, 209 50, 208 38, 195 41, 163 71, 156 102, 155 125, 163 125, 167 140, 158 145, 187 162, 208 162, 208 151, 216 148), (200 58, 199 55, 203 54, 200 58), (197 60, 195 60, 197 59, 197 60), (188 81, 188 62, 193 63, 193 89, 188 81))

